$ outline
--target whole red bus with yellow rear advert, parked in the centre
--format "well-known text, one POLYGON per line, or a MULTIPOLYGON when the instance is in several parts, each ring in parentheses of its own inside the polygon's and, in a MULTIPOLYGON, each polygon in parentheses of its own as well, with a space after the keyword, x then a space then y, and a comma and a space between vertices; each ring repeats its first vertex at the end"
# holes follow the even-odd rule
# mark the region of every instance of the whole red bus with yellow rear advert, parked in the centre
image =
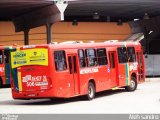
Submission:
POLYGON ((144 57, 137 42, 49 44, 11 52, 14 99, 70 98, 145 81, 144 57))

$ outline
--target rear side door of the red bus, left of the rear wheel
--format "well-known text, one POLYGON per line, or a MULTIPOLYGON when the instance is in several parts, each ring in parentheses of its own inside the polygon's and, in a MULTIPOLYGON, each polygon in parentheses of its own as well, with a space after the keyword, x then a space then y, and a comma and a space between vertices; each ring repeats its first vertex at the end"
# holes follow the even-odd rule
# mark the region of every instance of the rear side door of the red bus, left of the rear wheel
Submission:
POLYGON ((78 74, 77 74, 77 57, 75 54, 68 55, 68 65, 69 65, 69 73, 70 73, 70 88, 71 95, 78 95, 78 74))

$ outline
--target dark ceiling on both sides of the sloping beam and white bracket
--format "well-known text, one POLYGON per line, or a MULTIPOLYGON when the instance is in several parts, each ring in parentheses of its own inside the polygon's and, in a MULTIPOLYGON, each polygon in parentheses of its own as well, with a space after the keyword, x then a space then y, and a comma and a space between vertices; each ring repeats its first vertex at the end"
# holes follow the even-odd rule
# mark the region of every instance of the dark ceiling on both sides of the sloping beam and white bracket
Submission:
MULTIPOLYGON (((37 9, 53 5, 53 0, 0 0, 0 20, 12 20, 37 9)), ((69 0, 65 11, 65 20, 95 21, 93 15, 99 15, 96 21, 122 19, 131 21, 160 16, 159 0, 69 0)))

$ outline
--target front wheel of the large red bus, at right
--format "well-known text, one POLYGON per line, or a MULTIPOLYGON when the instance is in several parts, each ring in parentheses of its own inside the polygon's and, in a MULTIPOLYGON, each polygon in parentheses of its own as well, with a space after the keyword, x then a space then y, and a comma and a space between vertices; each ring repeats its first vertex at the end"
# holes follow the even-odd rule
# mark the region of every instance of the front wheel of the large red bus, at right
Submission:
POLYGON ((126 91, 128 92, 132 92, 135 91, 137 89, 137 80, 135 77, 132 77, 131 81, 130 81, 130 85, 125 87, 126 91))

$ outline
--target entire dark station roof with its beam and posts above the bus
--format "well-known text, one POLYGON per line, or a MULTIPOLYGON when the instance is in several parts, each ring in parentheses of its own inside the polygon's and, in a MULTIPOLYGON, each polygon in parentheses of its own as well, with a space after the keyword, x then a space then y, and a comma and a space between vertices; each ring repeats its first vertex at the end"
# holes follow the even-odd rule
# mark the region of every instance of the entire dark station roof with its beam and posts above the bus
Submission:
POLYGON ((16 32, 24 31, 25 44, 29 30, 41 25, 46 25, 50 43, 51 25, 61 20, 130 22, 132 33, 143 32, 147 45, 159 36, 159 6, 159 0, 0 0, 0 20, 12 20, 16 32))

